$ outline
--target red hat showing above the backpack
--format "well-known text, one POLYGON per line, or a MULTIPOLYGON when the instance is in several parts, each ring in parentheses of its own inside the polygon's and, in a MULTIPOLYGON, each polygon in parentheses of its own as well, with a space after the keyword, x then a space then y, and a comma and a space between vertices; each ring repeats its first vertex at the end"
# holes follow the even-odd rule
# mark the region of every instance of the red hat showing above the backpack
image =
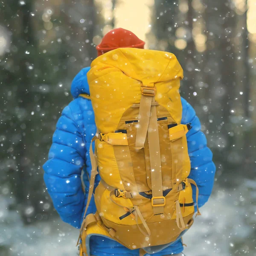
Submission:
POLYGON ((144 49, 145 42, 140 40, 133 32, 118 28, 112 29, 103 38, 102 42, 96 46, 98 56, 113 49, 133 47, 144 49))

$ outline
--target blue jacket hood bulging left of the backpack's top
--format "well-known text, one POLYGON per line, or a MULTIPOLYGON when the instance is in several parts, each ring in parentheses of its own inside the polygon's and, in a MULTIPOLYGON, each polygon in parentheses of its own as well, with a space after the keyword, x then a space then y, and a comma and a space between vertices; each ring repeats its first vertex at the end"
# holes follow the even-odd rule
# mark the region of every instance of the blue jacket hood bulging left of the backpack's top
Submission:
POLYGON ((81 93, 90 95, 89 84, 87 81, 87 73, 89 70, 90 67, 83 68, 73 79, 71 84, 71 94, 74 99, 81 93))

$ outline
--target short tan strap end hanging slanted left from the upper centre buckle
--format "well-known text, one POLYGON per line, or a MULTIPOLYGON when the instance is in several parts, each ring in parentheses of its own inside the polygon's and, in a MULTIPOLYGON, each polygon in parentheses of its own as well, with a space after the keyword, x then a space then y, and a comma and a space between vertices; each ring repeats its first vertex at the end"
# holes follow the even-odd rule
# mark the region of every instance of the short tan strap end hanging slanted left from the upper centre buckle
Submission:
POLYGON ((137 129, 136 134, 135 149, 142 149, 145 144, 148 132, 151 103, 153 99, 152 96, 141 95, 138 120, 139 128, 137 129))

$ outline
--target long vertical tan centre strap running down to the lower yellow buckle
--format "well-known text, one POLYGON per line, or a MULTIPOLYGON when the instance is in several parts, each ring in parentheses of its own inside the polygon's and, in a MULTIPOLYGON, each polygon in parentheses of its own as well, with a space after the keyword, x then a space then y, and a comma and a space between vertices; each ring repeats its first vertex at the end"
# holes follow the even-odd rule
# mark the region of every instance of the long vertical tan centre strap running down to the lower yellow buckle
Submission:
MULTIPOLYGON (((151 186, 152 186, 152 205, 153 205, 154 197, 163 197, 161 157, 160 157, 160 144, 159 144, 156 106, 151 106, 151 116, 150 116, 149 125, 148 125, 148 148, 149 148, 150 167, 151 167, 151 186)), ((159 199, 157 201, 160 201, 160 204, 163 204, 164 199, 162 200, 159 199)), ((154 215, 163 214, 163 206, 161 206, 160 204, 157 203, 158 206, 155 206, 155 207, 153 206, 154 215)))

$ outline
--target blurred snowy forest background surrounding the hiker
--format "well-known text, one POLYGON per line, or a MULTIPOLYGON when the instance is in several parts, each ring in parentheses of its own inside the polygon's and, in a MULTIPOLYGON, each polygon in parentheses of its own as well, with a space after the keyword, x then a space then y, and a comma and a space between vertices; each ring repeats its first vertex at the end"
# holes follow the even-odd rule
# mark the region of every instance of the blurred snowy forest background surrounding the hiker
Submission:
POLYGON ((114 27, 177 56, 214 153, 187 255, 256 256, 256 0, 1 0, 0 255, 72 255, 78 232, 59 221, 42 165, 72 79, 114 27))

